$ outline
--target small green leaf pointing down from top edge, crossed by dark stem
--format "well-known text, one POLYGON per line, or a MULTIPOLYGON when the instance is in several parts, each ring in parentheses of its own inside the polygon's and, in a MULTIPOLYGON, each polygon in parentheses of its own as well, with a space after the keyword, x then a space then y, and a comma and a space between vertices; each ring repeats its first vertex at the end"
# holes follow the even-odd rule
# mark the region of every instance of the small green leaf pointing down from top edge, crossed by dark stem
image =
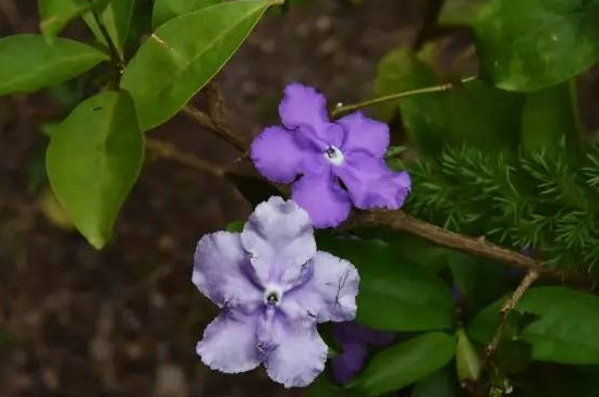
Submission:
MULTIPOLYGON (((112 0, 106 9, 99 13, 100 22, 106 27, 106 30, 117 47, 117 51, 121 58, 124 57, 125 44, 129 37, 134 8, 135 0, 112 0)), ((96 36, 96 38, 105 46, 108 46, 108 42, 106 41, 106 38, 102 35, 96 20, 94 18, 94 15, 88 12, 84 14, 83 17, 87 23, 87 26, 89 26, 94 33, 94 36, 96 36)))

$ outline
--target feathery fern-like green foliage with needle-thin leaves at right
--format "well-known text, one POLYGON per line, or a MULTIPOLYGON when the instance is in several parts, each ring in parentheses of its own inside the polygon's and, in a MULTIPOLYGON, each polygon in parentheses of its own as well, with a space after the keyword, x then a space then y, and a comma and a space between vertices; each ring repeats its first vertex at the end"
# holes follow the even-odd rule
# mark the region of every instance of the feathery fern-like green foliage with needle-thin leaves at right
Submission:
POLYGON ((582 161, 447 148, 408 169, 412 214, 599 277, 598 148, 582 161))

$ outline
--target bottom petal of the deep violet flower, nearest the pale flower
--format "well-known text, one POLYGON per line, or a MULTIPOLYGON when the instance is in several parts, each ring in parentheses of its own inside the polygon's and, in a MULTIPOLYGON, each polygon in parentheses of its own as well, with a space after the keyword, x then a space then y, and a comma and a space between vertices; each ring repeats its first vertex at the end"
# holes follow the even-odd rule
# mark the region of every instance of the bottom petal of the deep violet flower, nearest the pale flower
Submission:
POLYGON ((347 193, 331 173, 304 175, 293 184, 291 199, 308 211, 316 228, 338 226, 352 208, 347 193))

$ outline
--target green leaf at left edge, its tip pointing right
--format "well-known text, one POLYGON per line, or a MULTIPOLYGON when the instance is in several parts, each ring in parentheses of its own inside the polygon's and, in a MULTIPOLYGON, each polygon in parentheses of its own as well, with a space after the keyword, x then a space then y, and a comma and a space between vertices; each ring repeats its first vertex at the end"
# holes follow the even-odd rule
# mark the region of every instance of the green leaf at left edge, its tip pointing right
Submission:
POLYGON ((65 82, 108 55, 78 41, 39 35, 16 35, 0 39, 0 96, 33 92, 65 82))

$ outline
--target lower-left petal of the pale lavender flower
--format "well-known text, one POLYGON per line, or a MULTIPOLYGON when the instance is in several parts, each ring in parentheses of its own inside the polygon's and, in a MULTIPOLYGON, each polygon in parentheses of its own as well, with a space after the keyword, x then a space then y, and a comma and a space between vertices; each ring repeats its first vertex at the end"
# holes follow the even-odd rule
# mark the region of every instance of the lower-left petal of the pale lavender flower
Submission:
POLYGON ((204 332, 196 352, 212 370, 239 373, 260 364, 256 348, 257 315, 246 315, 233 310, 222 311, 204 332))

